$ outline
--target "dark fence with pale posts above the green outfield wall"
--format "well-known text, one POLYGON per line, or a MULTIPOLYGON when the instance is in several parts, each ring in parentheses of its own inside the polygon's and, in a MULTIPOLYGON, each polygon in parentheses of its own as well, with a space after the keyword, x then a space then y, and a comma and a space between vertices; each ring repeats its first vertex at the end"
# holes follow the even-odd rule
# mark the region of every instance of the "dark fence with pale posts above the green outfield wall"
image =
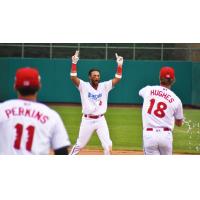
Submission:
POLYGON ((200 61, 200 43, 0 43, 0 57, 200 61))

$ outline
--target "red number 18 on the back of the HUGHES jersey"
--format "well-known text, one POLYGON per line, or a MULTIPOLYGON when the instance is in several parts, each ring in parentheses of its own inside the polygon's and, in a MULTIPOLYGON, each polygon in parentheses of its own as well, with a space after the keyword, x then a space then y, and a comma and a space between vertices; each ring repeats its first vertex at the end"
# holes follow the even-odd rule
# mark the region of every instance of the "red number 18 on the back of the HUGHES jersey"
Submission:
MULTIPOLYGON (((155 104, 155 99, 151 99, 150 100, 150 106, 149 106, 149 109, 147 111, 147 113, 149 113, 150 115, 152 113, 154 104, 155 104)), ((156 108, 156 110, 154 110, 153 113, 156 117, 163 118, 165 116, 164 110, 166 110, 166 109, 167 109, 167 105, 164 102, 158 102, 157 108, 156 108)))

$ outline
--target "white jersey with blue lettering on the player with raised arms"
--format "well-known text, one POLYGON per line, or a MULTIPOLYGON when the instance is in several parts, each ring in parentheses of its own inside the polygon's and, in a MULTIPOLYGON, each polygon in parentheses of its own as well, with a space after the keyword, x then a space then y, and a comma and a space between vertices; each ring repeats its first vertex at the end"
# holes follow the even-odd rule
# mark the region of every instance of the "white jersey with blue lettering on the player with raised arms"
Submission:
POLYGON ((101 115, 106 112, 108 93, 112 89, 112 80, 99 83, 97 90, 89 82, 80 80, 78 89, 81 95, 82 113, 101 115))

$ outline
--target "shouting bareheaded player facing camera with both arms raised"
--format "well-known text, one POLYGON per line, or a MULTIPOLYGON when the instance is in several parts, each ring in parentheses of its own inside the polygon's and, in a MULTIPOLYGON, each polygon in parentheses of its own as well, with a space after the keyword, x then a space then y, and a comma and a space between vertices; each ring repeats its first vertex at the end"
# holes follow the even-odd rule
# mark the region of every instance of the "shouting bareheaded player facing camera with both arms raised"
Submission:
POLYGON ((79 52, 72 56, 71 80, 80 91, 82 103, 82 122, 76 144, 71 150, 71 155, 76 155, 88 143, 93 132, 96 131, 104 149, 104 154, 111 154, 112 141, 110 139, 107 122, 104 114, 107 110, 108 93, 120 81, 122 77, 123 58, 116 54, 117 73, 115 78, 109 81, 100 81, 100 71, 89 71, 90 82, 85 82, 77 77, 76 64, 79 60, 79 52))

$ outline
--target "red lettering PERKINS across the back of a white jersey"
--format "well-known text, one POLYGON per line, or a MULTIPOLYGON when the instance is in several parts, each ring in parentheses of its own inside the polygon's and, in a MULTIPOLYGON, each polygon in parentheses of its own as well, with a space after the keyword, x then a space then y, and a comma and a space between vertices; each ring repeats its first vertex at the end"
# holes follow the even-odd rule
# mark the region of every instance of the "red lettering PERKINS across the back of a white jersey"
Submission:
POLYGON ((45 124, 46 121, 49 119, 48 116, 42 114, 39 111, 31 110, 23 107, 14 107, 11 109, 6 109, 5 114, 7 118, 14 117, 14 116, 24 116, 24 117, 30 117, 38 120, 42 124, 45 124))

